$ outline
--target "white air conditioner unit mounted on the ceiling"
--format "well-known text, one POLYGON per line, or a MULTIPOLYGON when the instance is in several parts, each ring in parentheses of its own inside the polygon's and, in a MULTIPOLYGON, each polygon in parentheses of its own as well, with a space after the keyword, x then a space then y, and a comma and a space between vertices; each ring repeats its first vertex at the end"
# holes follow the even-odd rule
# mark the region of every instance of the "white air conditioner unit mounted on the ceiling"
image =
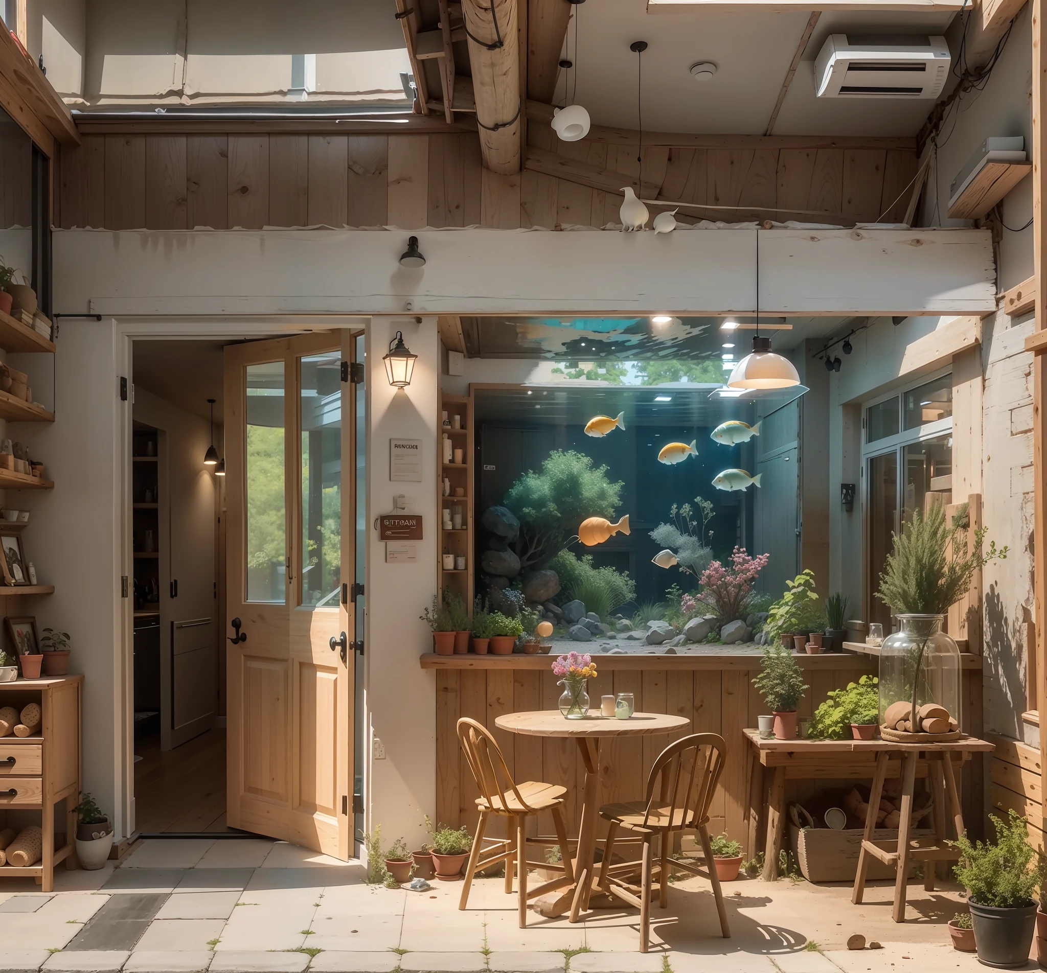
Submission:
POLYGON ((943 37, 830 33, 815 60, 820 98, 936 98, 952 58, 943 37))

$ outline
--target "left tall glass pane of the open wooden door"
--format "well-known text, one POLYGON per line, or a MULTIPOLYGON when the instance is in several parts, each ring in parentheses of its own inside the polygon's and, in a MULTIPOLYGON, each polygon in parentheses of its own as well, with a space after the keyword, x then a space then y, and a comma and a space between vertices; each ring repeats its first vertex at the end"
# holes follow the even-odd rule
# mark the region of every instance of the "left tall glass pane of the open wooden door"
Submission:
POLYGON ((284 363, 247 366, 247 601, 286 602, 284 363))

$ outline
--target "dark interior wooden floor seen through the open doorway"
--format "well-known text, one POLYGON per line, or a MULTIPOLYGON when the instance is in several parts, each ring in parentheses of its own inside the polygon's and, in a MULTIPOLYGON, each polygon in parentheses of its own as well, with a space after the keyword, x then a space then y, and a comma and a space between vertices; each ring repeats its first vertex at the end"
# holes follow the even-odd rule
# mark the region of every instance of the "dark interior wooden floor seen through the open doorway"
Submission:
POLYGON ((160 749, 159 734, 135 741, 135 830, 225 831, 225 730, 160 749))

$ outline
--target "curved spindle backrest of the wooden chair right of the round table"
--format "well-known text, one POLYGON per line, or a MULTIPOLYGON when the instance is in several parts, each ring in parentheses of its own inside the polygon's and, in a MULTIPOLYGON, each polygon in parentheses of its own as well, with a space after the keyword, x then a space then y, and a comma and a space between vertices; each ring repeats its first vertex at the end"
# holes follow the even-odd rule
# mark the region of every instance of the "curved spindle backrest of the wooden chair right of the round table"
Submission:
POLYGON ((718 733, 693 733, 669 744, 647 776, 644 824, 666 817, 673 831, 697 828, 709 815, 727 744, 718 733))

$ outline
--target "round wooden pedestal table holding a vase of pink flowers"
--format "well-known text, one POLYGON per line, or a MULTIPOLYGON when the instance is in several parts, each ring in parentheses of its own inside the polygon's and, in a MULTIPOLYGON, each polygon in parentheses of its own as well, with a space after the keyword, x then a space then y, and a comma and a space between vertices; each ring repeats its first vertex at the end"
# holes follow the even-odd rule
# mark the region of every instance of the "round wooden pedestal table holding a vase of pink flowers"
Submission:
MULTIPOLYGON (((508 712, 498 717, 494 725, 510 733, 528 737, 560 737, 574 740, 585 766, 585 787, 582 792, 582 813, 578 828, 578 852, 574 864, 574 881, 565 878, 547 882, 534 890, 535 897, 544 892, 538 903, 542 915, 562 915, 570 911, 571 922, 578 922, 579 912, 588 907, 588 897, 596 880, 597 811, 600 808, 600 741, 608 737, 643 737, 671 733, 691 723, 686 717, 664 712, 634 712, 628 720, 602 717, 599 709, 591 709, 584 720, 566 720, 558 709, 539 709, 531 712, 508 712)), ((550 782, 555 784, 556 782, 550 782)), ((647 782, 641 782, 646 786, 647 782)), ((567 785, 570 787, 570 783, 567 785)), ((565 850, 561 850, 565 854, 565 850)), ((530 898, 530 897, 529 897, 530 898)))

